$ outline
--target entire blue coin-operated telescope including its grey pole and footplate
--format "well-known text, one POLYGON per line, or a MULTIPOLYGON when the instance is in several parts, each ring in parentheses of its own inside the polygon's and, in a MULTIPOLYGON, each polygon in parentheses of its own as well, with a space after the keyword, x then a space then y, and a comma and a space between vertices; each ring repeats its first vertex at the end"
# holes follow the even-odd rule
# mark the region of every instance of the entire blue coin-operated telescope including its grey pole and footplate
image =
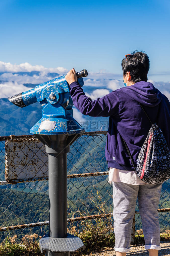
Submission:
MULTIPOLYGON (((76 73, 83 86, 83 69, 76 73)), ((73 101, 65 76, 38 84, 34 89, 9 97, 9 101, 23 108, 40 102, 42 118, 30 133, 45 144, 48 153, 49 232, 40 239, 41 252, 47 256, 70 255, 84 248, 79 237, 67 233, 67 153, 70 145, 84 128, 73 118, 73 101)), ((37 160, 38 161, 38 160, 37 160)))

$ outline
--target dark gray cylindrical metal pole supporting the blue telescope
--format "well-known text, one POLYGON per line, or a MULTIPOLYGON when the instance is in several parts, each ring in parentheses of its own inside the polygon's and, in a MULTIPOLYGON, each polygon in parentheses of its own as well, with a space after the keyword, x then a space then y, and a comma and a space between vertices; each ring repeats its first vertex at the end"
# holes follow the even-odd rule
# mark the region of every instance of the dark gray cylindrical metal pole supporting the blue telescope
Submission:
MULTIPOLYGON (((48 196, 49 236, 67 237, 67 153, 69 148, 49 148, 48 153, 48 196)), ((47 252, 48 256, 68 256, 70 253, 47 252)))

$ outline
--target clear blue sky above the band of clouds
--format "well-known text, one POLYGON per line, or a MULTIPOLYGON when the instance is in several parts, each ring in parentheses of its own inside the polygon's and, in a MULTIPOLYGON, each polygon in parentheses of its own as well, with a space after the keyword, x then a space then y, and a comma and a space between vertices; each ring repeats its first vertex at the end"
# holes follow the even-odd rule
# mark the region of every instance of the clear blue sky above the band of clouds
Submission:
POLYGON ((0 61, 121 74, 137 49, 150 58, 151 79, 170 81, 169 12, 169 0, 2 0, 0 61))

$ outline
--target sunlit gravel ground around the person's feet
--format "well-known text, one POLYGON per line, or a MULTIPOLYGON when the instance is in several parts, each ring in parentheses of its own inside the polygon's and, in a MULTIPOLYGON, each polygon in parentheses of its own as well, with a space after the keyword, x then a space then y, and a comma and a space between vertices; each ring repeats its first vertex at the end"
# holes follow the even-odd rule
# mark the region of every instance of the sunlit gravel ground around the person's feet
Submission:
MULTIPOLYGON (((160 243, 161 250, 159 250, 158 255, 170 256, 170 242, 164 241, 160 243)), ((100 251, 89 252, 90 256, 113 256, 116 255, 114 248, 104 248, 100 251)), ((149 256, 148 250, 145 250, 145 246, 141 244, 131 245, 130 252, 126 253, 127 256, 149 256)))

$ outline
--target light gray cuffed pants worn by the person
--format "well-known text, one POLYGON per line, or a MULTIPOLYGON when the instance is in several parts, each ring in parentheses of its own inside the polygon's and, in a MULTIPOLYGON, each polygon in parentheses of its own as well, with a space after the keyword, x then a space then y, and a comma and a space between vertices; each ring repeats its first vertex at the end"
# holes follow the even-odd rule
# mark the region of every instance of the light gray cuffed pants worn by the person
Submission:
POLYGON ((160 227, 158 204, 162 184, 131 185, 123 182, 113 183, 113 218, 115 251, 130 251, 130 238, 135 205, 138 197, 145 249, 160 250, 160 227))

